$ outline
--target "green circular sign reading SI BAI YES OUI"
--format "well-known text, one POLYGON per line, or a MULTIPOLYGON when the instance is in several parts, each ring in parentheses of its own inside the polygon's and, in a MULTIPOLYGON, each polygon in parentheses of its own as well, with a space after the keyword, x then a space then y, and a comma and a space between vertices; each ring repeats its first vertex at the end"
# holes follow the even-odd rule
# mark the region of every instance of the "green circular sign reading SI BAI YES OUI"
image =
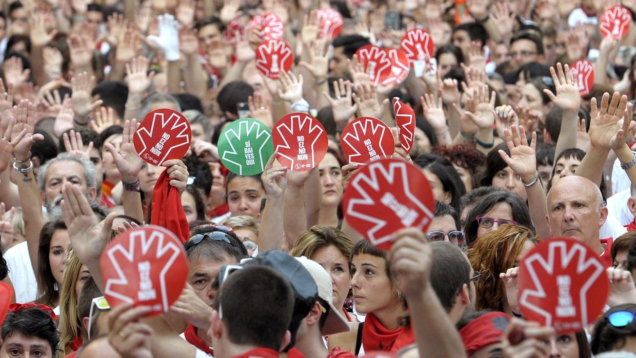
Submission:
POLYGON ((241 118, 225 127, 219 137, 219 156, 230 172, 253 176, 265 170, 274 153, 272 131, 254 118, 241 118))

